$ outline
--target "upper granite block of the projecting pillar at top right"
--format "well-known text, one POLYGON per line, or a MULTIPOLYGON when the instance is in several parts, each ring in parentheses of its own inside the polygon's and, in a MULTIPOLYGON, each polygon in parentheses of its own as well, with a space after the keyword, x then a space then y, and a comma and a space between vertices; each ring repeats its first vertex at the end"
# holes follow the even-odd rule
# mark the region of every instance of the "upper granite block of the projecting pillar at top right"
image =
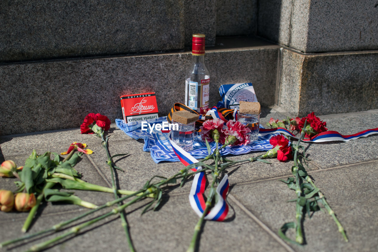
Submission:
POLYGON ((305 52, 378 49, 378 2, 259 1, 257 34, 305 52))

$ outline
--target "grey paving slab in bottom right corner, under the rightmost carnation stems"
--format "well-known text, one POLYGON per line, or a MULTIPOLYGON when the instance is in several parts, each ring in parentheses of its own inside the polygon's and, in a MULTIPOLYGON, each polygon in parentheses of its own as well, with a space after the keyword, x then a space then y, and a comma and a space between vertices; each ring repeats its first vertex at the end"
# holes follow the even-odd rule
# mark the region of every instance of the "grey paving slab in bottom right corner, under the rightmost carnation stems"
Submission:
MULTIPOLYGON (((310 173, 344 226, 349 243, 344 241, 328 213, 316 212, 311 219, 305 217, 307 244, 291 245, 294 250, 376 251, 377 165, 378 161, 374 161, 310 173)), ((295 198, 295 193, 278 179, 235 185, 230 194, 275 233, 285 222, 295 220, 295 203, 286 202, 295 198)))

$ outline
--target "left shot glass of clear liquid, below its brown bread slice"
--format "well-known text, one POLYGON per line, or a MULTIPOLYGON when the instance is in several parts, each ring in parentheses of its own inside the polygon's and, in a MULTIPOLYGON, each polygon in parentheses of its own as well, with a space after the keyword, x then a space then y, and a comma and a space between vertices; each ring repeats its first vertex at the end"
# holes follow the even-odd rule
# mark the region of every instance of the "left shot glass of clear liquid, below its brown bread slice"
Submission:
POLYGON ((172 141, 184 149, 190 151, 193 149, 195 121, 189 124, 179 123, 172 120, 172 124, 178 124, 177 127, 172 128, 172 141))

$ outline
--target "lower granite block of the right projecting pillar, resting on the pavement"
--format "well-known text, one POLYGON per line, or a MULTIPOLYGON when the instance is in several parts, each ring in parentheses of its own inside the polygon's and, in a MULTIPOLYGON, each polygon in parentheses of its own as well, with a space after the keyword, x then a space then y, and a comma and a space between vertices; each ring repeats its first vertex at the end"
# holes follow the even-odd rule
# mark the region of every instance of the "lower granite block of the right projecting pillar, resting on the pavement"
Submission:
POLYGON ((377 66, 378 51, 306 55, 283 49, 278 105, 299 116, 376 109, 377 66))

